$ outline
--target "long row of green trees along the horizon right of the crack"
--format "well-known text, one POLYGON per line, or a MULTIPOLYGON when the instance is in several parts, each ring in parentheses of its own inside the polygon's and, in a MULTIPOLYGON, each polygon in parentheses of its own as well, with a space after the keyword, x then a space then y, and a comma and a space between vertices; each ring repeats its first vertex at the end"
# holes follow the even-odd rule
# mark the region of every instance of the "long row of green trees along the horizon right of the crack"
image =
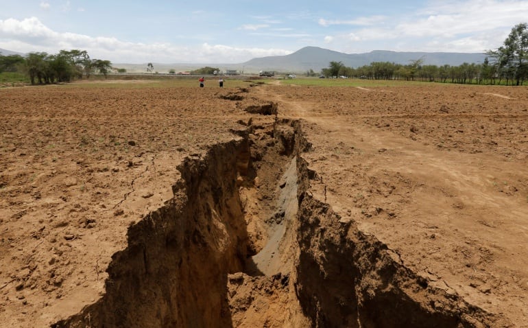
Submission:
MULTIPOLYGON (((461 84, 523 85, 528 80, 528 24, 512 28, 503 46, 486 52, 482 63, 464 62, 459 66, 423 65, 423 59, 411 60, 408 65, 394 62, 372 62, 358 68, 346 67, 342 62, 330 62, 321 73, 326 78, 345 76, 370 80, 418 80, 461 84), (491 60, 490 60, 491 58, 491 60)), ((308 72, 311 75, 313 72, 308 72)))

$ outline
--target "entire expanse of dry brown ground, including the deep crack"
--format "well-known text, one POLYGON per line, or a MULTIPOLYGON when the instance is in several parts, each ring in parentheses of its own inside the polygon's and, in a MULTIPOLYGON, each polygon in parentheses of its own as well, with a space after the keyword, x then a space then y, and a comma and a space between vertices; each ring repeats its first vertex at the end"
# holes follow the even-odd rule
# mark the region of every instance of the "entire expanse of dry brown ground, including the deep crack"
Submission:
POLYGON ((524 88, 0 104, 2 327, 528 327, 524 88))

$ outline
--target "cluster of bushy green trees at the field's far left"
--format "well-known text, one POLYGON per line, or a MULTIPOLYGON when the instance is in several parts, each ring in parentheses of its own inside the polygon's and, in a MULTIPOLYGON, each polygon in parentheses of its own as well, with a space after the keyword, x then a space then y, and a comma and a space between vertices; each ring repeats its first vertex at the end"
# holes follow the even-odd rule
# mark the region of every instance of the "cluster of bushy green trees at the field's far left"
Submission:
POLYGON ((106 76, 112 69, 109 60, 93 59, 85 50, 60 50, 58 54, 32 52, 23 57, 20 55, 2 56, 0 54, 0 73, 23 73, 31 84, 50 84, 71 82, 89 78, 92 73, 106 76))

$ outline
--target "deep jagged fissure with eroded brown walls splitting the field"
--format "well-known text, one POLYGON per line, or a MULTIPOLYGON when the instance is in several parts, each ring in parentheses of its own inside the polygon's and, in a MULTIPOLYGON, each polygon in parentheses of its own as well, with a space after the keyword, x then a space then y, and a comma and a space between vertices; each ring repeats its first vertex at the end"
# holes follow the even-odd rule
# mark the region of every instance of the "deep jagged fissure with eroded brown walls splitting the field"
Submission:
MULTIPOLYGON (((266 104, 276 114, 276 104, 266 104)), ((255 110, 252 108, 252 110, 255 110)), ((248 124, 178 167, 173 198, 130 226, 106 293, 53 327, 478 327, 313 195, 301 122, 248 124), (276 304, 274 304, 276 302, 276 304), (253 322, 245 313, 252 312, 253 322)))

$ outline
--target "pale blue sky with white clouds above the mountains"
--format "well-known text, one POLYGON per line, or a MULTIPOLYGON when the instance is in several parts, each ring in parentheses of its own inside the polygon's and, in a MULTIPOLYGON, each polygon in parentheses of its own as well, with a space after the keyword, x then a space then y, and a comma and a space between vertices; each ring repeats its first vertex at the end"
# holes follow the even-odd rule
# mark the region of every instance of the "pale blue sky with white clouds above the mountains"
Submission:
POLYGON ((130 64, 236 64, 307 46, 481 53, 527 21, 528 0, 0 0, 0 48, 130 64))

